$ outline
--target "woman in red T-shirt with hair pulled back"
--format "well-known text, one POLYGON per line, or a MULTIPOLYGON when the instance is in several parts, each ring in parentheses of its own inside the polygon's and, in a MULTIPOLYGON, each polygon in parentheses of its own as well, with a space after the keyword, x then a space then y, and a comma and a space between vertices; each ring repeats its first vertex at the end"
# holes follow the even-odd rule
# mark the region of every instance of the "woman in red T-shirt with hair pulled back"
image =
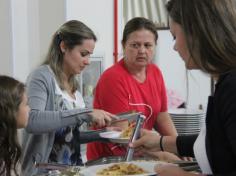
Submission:
MULTIPOLYGON (((115 114, 133 110, 142 112, 147 117, 144 128, 155 128, 162 135, 176 136, 176 129, 167 112, 162 73, 152 63, 157 39, 157 28, 151 20, 136 17, 128 21, 122 39, 124 58, 102 74, 95 90, 94 107, 115 114)), ((128 122, 117 126, 127 128, 128 122)), ((112 143, 89 143, 87 157, 91 160, 124 156, 126 149, 112 143)), ((160 158, 162 153, 159 152, 157 157, 160 158)))

